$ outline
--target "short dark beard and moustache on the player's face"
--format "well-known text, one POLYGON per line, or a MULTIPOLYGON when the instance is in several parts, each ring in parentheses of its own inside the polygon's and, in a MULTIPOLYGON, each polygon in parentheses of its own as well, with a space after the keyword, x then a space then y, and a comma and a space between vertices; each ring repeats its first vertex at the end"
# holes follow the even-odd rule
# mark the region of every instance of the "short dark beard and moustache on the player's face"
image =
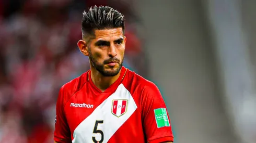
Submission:
POLYGON ((120 72, 120 70, 122 69, 123 66, 123 60, 120 62, 120 60, 118 58, 109 58, 107 60, 104 60, 103 63, 98 62, 94 56, 92 56, 91 50, 90 48, 88 48, 88 52, 89 52, 89 60, 92 64, 92 66, 99 71, 100 74, 102 74, 103 76, 115 76, 118 75, 118 73, 120 72), (117 61, 118 63, 118 68, 113 68, 111 70, 106 70, 106 68, 104 68, 104 64, 109 63, 110 61, 117 61))

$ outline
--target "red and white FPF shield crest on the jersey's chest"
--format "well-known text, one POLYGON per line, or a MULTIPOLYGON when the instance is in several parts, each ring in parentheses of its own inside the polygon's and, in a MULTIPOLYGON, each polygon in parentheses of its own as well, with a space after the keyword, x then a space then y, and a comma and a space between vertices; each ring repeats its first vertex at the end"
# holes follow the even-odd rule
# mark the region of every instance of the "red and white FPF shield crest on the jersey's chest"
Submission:
POLYGON ((113 115, 120 117, 127 110, 128 100, 125 99, 117 99, 112 101, 112 109, 111 112, 113 115))

